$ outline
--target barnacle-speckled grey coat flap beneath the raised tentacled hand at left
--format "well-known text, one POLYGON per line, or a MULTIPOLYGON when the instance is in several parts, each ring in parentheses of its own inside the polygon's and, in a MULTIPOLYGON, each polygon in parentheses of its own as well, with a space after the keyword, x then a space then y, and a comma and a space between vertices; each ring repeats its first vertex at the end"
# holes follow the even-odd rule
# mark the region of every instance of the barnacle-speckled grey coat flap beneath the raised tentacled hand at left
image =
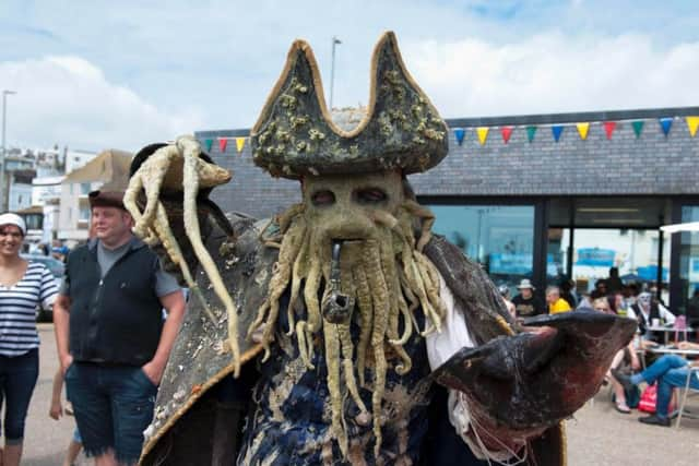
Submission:
MULTIPOLYGON (((238 215, 227 217, 236 235, 214 226, 205 246, 236 303, 238 344, 241 363, 245 363, 261 349, 245 335, 266 297, 277 250, 265 248, 260 242, 261 223, 238 215)), ((153 423, 146 430, 143 456, 209 389, 234 370, 225 307, 203 270, 197 272, 196 280, 198 290, 190 292, 185 320, 161 382, 153 423)))

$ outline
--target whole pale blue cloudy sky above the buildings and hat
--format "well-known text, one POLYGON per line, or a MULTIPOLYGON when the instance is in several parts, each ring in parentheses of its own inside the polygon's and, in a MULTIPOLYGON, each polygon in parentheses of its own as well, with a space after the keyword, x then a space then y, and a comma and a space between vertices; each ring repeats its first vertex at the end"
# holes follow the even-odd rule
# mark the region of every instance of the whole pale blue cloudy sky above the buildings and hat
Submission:
POLYGON ((699 106, 696 0, 1 0, 8 145, 135 151, 250 128, 297 38, 334 105, 395 31, 442 117, 699 106))

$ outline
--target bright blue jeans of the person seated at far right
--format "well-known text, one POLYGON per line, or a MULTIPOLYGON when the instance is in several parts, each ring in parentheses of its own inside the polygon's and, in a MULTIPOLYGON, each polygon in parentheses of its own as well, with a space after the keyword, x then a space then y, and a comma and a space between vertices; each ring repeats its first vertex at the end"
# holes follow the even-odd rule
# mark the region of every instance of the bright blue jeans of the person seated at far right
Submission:
MULTIPOLYGON (((641 372, 641 377, 645 382, 653 383, 657 381, 657 401, 655 402, 657 417, 667 417, 673 389, 687 384, 687 374, 689 373, 687 365, 687 360, 677 355, 664 355, 641 372)), ((699 379, 692 375, 689 386, 699 390, 699 379)))

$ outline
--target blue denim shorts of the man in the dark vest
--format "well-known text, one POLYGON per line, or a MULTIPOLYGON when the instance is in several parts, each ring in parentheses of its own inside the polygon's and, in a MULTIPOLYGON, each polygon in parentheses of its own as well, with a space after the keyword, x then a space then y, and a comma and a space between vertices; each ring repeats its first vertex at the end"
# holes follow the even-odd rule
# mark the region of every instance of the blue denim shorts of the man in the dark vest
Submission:
POLYGON ((99 456, 114 450, 120 464, 135 463, 157 393, 143 370, 73 362, 66 371, 66 389, 85 454, 99 456))

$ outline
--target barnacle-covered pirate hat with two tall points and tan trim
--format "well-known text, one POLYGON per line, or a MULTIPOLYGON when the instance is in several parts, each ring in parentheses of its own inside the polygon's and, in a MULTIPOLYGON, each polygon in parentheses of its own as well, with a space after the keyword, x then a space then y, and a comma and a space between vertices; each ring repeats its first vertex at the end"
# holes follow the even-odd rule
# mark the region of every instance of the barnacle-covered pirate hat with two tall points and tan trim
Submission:
POLYGON ((447 124, 410 75, 391 32, 371 59, 367 115, 352 131, 333 123, 318 64, 304 40, 286 65, 250 133, 254 163, 272 176, 425 171, 448 152, 447 124))

